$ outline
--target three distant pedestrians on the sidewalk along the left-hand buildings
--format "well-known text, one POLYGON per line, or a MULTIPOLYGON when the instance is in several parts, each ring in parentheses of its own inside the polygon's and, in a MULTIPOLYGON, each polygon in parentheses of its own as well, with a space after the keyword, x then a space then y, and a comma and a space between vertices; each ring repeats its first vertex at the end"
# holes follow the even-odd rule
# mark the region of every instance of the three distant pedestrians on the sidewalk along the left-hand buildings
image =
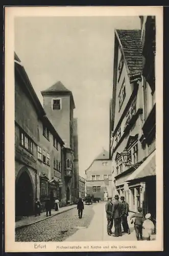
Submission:
MULTIPOLYGON (((53 203, 51 202, 50 199, 45 199, 45 211, 46 211, 46 217, 51 216, 51 210, 53 208, 53 203)), ((55 211, 59 210, 59 200, 56 198, 55 200, 55 211)), ((35 200, 35 217, 38 215, 40 216, 41 213, 41 203, 38 200, 38 198, 36 198, 35 200)))

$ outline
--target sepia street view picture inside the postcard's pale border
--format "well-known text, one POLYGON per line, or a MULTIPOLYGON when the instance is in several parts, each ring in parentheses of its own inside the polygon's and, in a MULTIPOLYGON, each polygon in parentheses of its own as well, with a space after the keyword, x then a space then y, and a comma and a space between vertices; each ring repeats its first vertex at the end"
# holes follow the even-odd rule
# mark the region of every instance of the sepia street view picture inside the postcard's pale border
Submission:
POLYGON ((13 37, 14 242, 151 248, 156 15, 16 15, 13 37))

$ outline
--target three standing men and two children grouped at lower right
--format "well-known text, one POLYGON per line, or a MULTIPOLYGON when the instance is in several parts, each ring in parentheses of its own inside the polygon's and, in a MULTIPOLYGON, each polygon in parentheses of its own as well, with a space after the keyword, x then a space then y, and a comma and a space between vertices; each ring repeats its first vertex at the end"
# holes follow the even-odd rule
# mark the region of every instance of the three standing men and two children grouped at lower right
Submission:
MULTIPOLYGON (((114 201, 112 197, 108 198, 106 204, 106 215, 107 215, 107 233, 109 236, 120 237, 123 232, 130 234, 130 228, 128 224, 129 216, 129 205, 125 201, 125 197, 115 195, 114 201), (112 227, 114 222, 114 234, 112 233, 112 227)), ((137 240, 142 240, 143 237, 147 240, 151 240, 151 236, 154 233, 154 224, 151 221, 151 214, 147 214, 145 217, 142 214, 142 209, 138 207, 138 212, 133 214, 130 218, 131 223, 134 223, 134 229, 137 240)))

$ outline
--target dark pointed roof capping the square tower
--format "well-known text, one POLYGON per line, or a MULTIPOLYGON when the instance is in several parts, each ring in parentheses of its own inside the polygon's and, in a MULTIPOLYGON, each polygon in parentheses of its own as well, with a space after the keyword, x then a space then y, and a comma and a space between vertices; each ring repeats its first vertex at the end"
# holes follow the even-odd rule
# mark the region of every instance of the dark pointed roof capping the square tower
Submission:
POLYGON ((47 88, 44 91, 41 91, 42 96, 43 95, 57 95, 57 94, 61 94, 61 95, 65 95, 68 94, 70 95, 71 101, 73 102, 73 106, 75 109, 75 101, 74 101, 74 97, 71 91, 69 91, 61 81, 56 82, 55 84, 53 84, 53 86, 47 88))

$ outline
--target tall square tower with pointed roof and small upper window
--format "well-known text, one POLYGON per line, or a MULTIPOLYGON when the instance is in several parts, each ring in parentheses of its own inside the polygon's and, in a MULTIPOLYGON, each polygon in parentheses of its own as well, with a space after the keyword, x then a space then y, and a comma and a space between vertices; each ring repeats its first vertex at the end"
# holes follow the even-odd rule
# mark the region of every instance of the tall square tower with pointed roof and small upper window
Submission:
POLYGON ((78 182, 74 165, 74 109, 73 94, 58 81, 50 88, 41 92, 43 96, 43 108, 47 117, 63 139, 64 185, 66 191, 66 203, 76 200, 78 182), (76 186, 75 186, 76 185, 76 186))

